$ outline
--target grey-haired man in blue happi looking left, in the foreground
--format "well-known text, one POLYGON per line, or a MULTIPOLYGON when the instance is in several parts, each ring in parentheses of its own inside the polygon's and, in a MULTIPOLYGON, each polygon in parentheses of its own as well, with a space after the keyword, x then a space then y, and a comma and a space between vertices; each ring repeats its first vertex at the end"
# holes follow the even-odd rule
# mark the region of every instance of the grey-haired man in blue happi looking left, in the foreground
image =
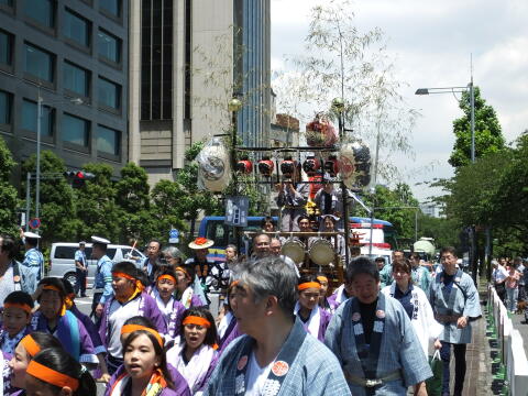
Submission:
POLYGON ((230 302, 245 336, 221 355, 205 395, 350 395, 336 358, 292 315, 294 270, 270 256, 234 271, 230 302))

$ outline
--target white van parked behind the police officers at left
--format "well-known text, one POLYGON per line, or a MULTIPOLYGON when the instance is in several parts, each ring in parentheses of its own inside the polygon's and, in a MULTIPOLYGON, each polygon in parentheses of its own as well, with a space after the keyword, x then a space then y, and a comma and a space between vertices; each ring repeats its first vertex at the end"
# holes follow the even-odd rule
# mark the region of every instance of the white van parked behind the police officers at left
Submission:
MULTIPOLYGON (((79 244, 75 242, 56 242, 52 244, 50 252, 50 271, 47 276, 65 278, 75 287, 75 252, 79 249, 79 244)), ((91 258, 91 243, 85 245, 86 261, 88 263, 88 287, 94 285, 96 276, 97 260, 91 258)), ((136 265, 141 264, 145 255, 138 249, 127 245, 109 244, 107 255, 114 262, 129 261, 136 265), (138 257, 136 261, 129 257, 138 257)))

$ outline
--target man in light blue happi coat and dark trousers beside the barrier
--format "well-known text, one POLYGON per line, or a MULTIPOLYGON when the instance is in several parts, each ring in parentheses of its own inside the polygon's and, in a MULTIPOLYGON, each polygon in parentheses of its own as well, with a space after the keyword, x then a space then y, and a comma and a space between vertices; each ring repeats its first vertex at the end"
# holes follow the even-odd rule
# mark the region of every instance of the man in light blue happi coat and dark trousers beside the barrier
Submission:
POLYGON ((457 251, 452 246, 440 251, 443 271, 436 275, 429 288, 435 319, 443 324, 440 334, 443 362, 442 395, 449 395, 451 346, 454 351, 454 396, 462 395, 465 380, 465 350, 471 343, 471 320, 481 317, 479 293, 470 275, 457 268, 457 251))

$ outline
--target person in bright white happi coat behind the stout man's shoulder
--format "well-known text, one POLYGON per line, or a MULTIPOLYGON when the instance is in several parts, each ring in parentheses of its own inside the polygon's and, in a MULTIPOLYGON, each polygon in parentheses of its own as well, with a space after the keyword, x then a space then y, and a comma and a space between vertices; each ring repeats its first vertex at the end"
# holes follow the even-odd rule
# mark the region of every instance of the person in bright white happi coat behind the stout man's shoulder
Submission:
POLYGON ((435 314, 432 314, 426 293, 413 284, 409 260, 405 258, 394 263, 393 277, 393 284, 384 287, 382 293, 396 298, 402 304, 420 341, 421 349, 428 356, 430 340, 435 341, 436 349, 442 346, 438 337, 442 332, 443 326, 435 320, 435 314))

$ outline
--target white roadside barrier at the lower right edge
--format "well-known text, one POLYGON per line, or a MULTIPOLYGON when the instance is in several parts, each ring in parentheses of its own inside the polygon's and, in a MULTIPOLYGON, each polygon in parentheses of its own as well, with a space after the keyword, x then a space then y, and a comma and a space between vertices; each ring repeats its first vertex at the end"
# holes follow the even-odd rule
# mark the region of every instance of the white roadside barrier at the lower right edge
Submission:
POLYGON ((499 356, 495 363, 505 369, 505 385, 509 386, 509 395, 528 395, 528 360, 526 358, 524 340, 508 316, 508 310, 497 295, 495 287, 487 289, 487 315, 491 316, 488 332, 496 338, 499 356))

